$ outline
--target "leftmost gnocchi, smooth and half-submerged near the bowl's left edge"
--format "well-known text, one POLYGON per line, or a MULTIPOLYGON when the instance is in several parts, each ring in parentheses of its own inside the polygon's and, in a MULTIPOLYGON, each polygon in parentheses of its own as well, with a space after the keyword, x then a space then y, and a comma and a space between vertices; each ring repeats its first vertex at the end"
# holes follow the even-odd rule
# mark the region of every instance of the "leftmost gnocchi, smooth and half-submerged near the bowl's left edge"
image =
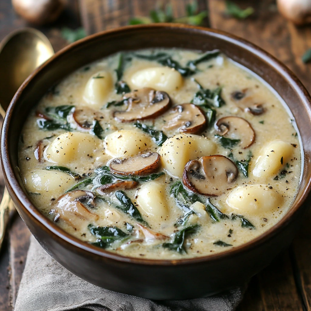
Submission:
POLYGON ((30 193, 58 197, 75 184, 75 179, 63 172, 34 169, 24 175, 26 190, 30 193))

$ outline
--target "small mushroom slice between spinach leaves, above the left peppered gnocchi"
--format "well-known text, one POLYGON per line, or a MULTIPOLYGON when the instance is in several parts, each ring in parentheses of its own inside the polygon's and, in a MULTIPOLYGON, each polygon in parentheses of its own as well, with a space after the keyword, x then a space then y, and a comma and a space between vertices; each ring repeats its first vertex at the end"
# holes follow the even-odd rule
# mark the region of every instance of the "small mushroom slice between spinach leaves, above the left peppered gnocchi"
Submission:
POLYGON ((77 129, 80 131, 89 132, 96 118, 100 118, 98 111, 89 107, 81 107, 74 109, 72 114, 69 115, 69 122, 76 123, 77 129))

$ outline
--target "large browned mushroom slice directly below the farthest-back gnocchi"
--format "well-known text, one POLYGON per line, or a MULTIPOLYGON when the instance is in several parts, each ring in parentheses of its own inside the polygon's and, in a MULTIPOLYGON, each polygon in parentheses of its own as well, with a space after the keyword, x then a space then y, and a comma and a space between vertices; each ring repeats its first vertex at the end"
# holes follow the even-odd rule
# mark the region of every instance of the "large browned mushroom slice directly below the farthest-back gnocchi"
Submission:
POLYGON ((113 116, 120 122, 132 122, 156 118, 169 109, 170 98, 164 91, 156 91, 150 87, 134 90, 123 96, 128 99, 128 109, 115 111, 113 116))

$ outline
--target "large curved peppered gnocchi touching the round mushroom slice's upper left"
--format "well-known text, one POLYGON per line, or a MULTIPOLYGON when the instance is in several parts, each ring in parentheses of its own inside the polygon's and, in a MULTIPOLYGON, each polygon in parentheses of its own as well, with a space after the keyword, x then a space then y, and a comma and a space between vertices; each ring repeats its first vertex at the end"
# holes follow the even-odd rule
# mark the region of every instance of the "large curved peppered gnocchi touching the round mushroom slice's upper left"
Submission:
POLYGON ((209 156, 216 151, 210 139, 193 134, 178 134, 169 137, 160 149, 164 169, 174 177, 182 177, 186 163, 209 156))

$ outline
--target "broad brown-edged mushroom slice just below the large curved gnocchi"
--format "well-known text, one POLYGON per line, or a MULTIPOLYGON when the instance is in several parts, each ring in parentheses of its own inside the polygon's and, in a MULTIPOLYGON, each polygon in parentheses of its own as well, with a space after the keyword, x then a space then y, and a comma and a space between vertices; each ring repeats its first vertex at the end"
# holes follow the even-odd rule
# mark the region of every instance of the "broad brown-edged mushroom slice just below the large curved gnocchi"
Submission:
POLYGON ((203 156, 185 165, 183 184, 193 192, 218 196, 232 188, 237 176, 238 168, 225 156, 203 156))

